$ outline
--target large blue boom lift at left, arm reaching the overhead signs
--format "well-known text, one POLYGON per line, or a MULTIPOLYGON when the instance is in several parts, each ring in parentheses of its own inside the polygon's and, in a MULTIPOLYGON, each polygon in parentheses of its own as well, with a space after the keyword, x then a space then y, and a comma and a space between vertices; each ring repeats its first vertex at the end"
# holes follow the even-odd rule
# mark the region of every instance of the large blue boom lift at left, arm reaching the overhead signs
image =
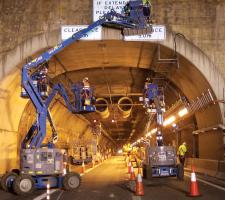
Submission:
POLYGON ((31 193, 34 188, 46 188, 47 184, 65 190, 74 190, 79 187, 80 176, 65 171, 65 150, 55 148, 54 143, 57 141, 58 134, 48 108, 55 95, 59 93, 72 113, 94 112, 94 97, 90 89, 89 104, 84 105, 81 97, 82 86, 73 85, 71 88, 75 97, 73 105, 65 88, 60 83, 53 85, 48 94, 48 61, 65 47, 100 25, 119 28, 124 35, 151 33, 152 26, 148 23, 149 16, 143 14, 142 1, 131 0, 129 6, 129 15, 122 15, 111 10, 86 29, 73 34, 69 39, 23 66, 21 96, 32 101, 36 108, 37 118, 22 141, 20 169, 14 169, 2 177, 3 189, 7 191, 13 189, 16 194, 24 195, 31 193), (52 138, 47 144, 44 144, 47 120, 52 128, 52 138))

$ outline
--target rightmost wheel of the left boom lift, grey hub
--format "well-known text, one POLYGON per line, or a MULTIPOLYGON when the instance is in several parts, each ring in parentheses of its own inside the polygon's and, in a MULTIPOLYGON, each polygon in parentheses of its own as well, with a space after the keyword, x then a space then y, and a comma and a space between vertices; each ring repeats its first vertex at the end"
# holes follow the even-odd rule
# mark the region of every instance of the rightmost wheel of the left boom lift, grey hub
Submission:
POLYGON ((76 190, 80 186, 80 175, 70 172, 63 177, 62 185, 64 190, 76 190))

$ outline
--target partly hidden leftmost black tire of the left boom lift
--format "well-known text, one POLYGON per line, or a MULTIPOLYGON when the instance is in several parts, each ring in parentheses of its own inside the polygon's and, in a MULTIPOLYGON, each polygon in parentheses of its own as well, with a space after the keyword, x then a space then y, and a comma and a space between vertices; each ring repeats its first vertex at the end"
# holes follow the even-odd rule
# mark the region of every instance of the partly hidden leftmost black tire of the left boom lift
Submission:
POLYGON ((1 187, 4 191, 6 192, 12 192, 13 191, 13 182, 15 181, 15 179, 18 177, 18 174, 14 173, 14 172, 8 172, 6 174, 4 174, 1 178, 1 187), (11 179, 11 183, 7 183, 9 180, 11 179))

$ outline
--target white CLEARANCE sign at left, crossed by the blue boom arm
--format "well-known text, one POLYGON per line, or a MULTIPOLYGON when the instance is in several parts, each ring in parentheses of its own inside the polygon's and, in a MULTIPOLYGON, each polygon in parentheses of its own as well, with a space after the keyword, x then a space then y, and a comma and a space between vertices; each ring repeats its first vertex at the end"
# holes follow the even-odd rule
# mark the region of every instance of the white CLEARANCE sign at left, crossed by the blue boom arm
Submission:
MULTIPOLYGON (((66 40, 70 38, 74 33, 87 28, 88 25, 69 25, 61 27, 61 38, 66 40)), ((95 27, 85 34, 81 40, 101 40, 102 39, 102 28, 101 26, 95 27)))

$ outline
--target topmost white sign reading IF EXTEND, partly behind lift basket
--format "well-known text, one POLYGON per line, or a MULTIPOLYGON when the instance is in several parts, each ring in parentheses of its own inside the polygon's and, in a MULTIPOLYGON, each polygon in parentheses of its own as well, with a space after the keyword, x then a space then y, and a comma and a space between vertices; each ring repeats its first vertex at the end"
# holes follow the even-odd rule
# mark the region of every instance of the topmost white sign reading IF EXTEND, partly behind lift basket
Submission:
POLYGON ((129 0, 93 0, 93 21, 97 21, 102 15, 114 9, 122 13, 129 0))

